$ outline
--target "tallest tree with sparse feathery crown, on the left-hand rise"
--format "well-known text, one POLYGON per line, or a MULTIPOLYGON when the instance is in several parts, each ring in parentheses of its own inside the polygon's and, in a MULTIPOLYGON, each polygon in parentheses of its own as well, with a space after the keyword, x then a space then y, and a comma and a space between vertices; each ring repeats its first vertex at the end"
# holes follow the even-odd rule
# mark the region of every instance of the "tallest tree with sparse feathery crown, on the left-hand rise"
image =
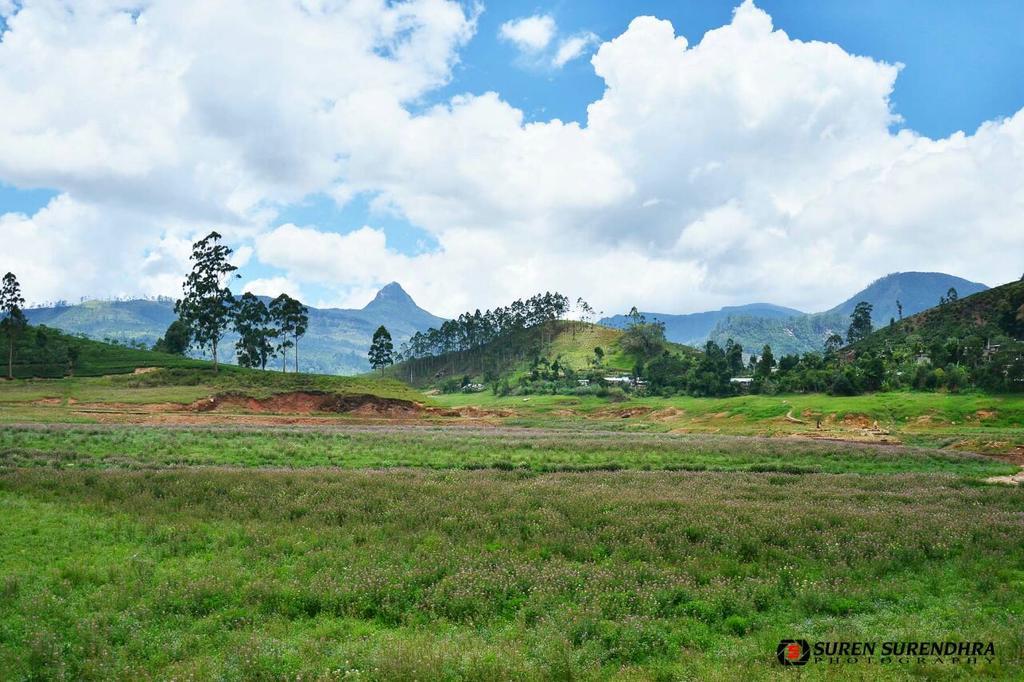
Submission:
MULTIPOLYGON (((193 342, 213 351, 213 371, 217 371, 217 345, 231 319, 234 297, 227 283, 239 269, 227 261, 231 250, 220 244, 220 235, 210 232, 193 245, 193 269, 182 287, 184 296, 174 304, 174 311, 188 325, 193 342)), ((241 276, 236 274, 234 276, 241 276)))

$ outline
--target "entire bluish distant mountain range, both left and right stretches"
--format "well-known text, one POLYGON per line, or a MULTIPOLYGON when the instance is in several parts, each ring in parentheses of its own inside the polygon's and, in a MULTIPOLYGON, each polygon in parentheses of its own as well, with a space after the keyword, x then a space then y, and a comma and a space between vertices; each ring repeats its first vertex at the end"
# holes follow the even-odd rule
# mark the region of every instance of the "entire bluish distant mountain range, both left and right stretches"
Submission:
MULTIPOLYGON (((727 306, 719 310, 690 314, 644 312, 648 319, 665 324, 670 341, 701 346, 709 339, 724 344, 733 339, 748 353, 759 354, 770 345, 776 355, 820 350, 833 333, 845 335, 850 313, 859 301, 873 308, 874 326, 882 327, 899 317, 896 301, 908 317, 938 304, 953 288, 961 297, 988 289, 983 284, 941 272, 894 272, 871 283, 864 290, 824 312, 806 313, 771 303, 727 306)), ((267 299, 269 300, 269 299, 267 299)), ((96 340, 152 346, 174 321, 171 299, 128 301, 85 301, 27 310, 32 325, 46 325, 70 334, 84 334, 96 340)), ((369 370, 367 350, 378 326, 391 332, 395 347, 416 332, 439 326, 444 319, 419 307, 397 283, 381 289, 373 301, 360 309, 309 308, 309 329, 299 342, 300 369, 322 374, 358 374, 369 370)), ((604 317, 599 324, 624 328, 626 315, 604 317)), ((223 361, 233 361, 234 338, 228 335, 219 353, 223 361)))

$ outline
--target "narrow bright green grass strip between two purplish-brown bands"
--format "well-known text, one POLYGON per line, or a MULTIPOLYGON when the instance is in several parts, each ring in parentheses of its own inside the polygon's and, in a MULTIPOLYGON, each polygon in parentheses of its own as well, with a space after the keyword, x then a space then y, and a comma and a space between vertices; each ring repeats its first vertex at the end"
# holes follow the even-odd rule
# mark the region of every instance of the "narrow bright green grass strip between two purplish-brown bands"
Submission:
POLYGON ((0 427, 8 466, 426 467, 543 471, 1015 473, 956 452, 727 436, 520 429, 0 427))

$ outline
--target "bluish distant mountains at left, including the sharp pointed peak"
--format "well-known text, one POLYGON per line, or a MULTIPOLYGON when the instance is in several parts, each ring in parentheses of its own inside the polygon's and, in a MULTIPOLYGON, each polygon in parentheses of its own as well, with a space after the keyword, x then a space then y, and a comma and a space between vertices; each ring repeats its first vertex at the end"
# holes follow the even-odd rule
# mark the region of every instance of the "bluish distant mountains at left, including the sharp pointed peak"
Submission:
MULTIPOLYGON (((269 300, 269 299, 266 299, 269 300)), ((91 339, 152 346, 177 315, 171 299, 85 301, 76 305, 32 308, 32 325, 46 325, 91 339)), ((367 350, 374 331, 384 325, 397 348, 413 334, 444 322, 419 307, 395 282, 387 285, 359 309, 309 307, 309 329, 299 340, 299 369, 319 374, 358 374, 370 369, 367 350)), ((233 335, 228 335, 218 355, 233 361, 233 335)), ((291 361, 291 360, 290 360, 291 361)))

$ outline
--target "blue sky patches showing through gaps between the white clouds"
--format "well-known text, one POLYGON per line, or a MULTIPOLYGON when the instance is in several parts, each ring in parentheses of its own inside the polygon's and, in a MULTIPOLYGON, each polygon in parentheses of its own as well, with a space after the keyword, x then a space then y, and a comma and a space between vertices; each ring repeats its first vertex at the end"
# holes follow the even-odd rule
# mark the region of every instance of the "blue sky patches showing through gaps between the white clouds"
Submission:
MULTIPOLYGON (((903 126, 930 137, 972 132, 984 121, 1010 116, 1024 105, 1024 2, 761 0, 758 6, 792 38, 835 42, 856 54, 902 63, 894 109, 903 126)), ((557 118, 584 124, 587 105, 604 89, 589 56, 560 70, 523 67, 516 61, 516 48, 498 38, 502 24, 526 14, 549 14, 565 31, 590 31, 607 40, 622 34, 634 17, 650 14, 670 19, 692 45, 707 31, 728 24, 734 7, 732 1, 710 0, 487 2, 451 84, 425 103, 463 92, 496 90, 528 120, 557 118)), ((357 204, 339 211, 329 199, 314 197, 282 217, 341 231, 372 222, 383 226, 388 244, 403 253, 418 253, 434 244, 415 225, 393 216, 371 215, 367 202, 357 204)), ((267 272, 255 266, 247 274, 267 272)))

